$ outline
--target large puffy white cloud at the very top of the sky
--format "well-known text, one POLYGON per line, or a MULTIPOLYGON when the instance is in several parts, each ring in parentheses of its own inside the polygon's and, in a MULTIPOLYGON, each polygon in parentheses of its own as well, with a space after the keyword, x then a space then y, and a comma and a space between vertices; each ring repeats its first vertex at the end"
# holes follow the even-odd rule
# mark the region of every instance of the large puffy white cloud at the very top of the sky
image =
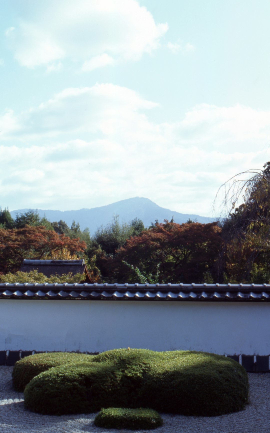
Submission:
POLYGON ((6 30, 6 38, 16 60, 28 68, 63 59, 92 69, 110 64, 109 58, 135 61, 158 48, 168 28, 135 0, 47 0, 38 9, 25 0, 24 5, 25 16, 6 30))

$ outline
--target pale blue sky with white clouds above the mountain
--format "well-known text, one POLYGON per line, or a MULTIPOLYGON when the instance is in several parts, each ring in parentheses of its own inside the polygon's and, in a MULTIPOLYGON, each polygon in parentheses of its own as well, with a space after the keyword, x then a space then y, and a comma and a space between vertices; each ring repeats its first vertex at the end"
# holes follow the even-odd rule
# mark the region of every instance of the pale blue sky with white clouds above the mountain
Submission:
POLYGON ((269 18, 269 0, 0 0, 2 208, 219 212, 270 160, 269 18))

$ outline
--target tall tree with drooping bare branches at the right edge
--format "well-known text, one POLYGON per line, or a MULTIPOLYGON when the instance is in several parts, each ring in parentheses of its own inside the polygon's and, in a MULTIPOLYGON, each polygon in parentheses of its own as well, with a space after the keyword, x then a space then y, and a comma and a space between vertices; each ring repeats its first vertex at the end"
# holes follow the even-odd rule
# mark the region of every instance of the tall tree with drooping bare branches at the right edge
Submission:
POLYGON ((247 170, 224 185, 223 248, 219 273, 231 282, 270 279, 270 162, 264 170, 247 170), (243 203, 236 207, 239 200, 243 203))

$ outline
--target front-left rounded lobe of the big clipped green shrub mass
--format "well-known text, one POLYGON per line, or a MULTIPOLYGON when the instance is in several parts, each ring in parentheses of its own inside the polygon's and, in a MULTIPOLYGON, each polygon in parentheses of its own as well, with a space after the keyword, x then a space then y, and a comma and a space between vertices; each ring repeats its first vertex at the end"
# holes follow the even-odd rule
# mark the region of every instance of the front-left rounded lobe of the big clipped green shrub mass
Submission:
POLYGON ((121 374, 110 364, 65 364, 35 376, 24 390, 26 408, 40 414, 62 415, 97 412, 121 406, 121 374))

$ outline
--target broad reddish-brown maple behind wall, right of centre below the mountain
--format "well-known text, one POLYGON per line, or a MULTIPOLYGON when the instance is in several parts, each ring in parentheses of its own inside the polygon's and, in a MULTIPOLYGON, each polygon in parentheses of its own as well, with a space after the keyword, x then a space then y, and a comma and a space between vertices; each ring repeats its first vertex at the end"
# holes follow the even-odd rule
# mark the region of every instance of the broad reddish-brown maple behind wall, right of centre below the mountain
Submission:
POLYGON ((222 242, 220 233, 217 223, 155 223, 139 236, 127 239, 107 267, 123 282, 134 278, 123 261, 142 275, 153 275, 158 270, 159 282, 203 282, 206 272, 214 272, 222 242))

